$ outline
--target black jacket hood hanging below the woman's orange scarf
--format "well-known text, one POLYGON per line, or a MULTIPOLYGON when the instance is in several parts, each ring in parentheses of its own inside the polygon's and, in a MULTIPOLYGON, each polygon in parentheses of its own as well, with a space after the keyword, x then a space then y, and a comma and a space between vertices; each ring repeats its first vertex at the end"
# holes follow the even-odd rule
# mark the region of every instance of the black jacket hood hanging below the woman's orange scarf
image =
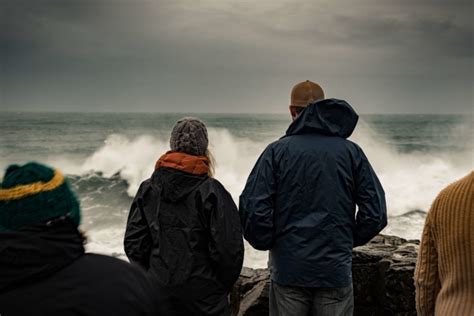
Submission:
POLYGON ((161 167, 153 173, 152 183, 161 189, 161 198, 176 202, 185 198, 209 177, 195 175, 169 167, 161 167))

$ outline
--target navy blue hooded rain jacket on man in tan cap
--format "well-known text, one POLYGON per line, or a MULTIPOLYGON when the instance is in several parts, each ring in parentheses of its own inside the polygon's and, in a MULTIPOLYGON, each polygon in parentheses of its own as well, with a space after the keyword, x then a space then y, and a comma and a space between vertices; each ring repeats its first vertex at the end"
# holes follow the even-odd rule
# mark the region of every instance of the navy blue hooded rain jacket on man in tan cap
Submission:
POLYGON ((247 180, 240 196, 244 237, 270 250, 279 284, 350 285, 352 248, 387 224, 383 188, 362 149, 346 139, 357 120, 343 100, 309 105, 247 180))

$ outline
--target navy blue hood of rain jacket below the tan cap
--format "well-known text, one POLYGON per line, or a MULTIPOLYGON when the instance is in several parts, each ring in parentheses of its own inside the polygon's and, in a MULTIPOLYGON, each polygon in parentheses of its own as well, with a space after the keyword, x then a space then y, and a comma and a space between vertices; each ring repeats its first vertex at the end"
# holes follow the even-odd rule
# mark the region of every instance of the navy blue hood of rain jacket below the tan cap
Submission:
POLYGON ((291 123, 286 136, 318 133, 348 138, 355 129, 359 116, 344 100, 316 101, 291 123))

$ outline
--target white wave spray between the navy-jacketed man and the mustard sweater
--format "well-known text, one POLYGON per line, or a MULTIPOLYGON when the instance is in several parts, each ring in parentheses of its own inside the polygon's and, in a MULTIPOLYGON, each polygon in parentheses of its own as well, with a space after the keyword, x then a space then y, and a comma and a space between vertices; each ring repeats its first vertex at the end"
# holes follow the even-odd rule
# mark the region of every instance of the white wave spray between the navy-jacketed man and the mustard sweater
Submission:
POLYGON ((438 192, 473 168, 472 149, 456 153, 401 153, 360 124, 352 140, 366 153, 383 184, 390 216, 428 211, 438 192))

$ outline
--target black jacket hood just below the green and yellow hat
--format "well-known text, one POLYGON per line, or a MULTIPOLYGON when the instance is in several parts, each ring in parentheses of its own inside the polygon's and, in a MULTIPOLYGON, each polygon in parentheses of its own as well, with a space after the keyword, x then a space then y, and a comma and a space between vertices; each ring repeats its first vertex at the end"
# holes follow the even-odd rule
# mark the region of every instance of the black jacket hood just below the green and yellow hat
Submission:
POLYGON ((0 292, 47 277, 84 254, 83 237, 61 218, 0 233, 0 292))

